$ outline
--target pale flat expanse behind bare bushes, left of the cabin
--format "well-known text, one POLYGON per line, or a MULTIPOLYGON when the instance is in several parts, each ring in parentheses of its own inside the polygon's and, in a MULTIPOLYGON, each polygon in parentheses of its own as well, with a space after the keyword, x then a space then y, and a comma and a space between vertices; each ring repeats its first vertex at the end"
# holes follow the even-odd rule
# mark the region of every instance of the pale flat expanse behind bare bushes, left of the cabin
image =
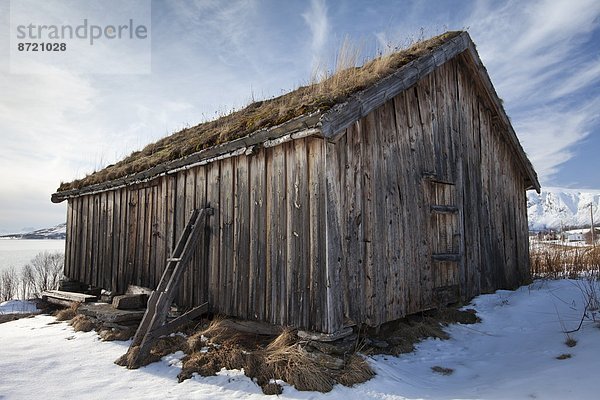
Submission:
POLYGON ((0 272, 15 267, 17 272, 43 251, 65 252, 64 240, 12 239, 0 240, 0 272))

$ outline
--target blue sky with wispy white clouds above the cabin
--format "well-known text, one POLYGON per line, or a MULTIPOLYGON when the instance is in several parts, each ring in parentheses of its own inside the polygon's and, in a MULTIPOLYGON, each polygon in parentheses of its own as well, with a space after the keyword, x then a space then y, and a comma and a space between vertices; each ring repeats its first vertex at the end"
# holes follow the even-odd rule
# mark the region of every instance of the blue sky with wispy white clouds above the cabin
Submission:
MULTIPOLYGON (((37 1, 31 15, 47 13, 37 1)), ((15 2, 0 0, 0 232, 64 222, 65 203, 50 202, 60 182, 307 84, 344 40, 367 58, 446 30, 471 35, 542 186, 600 189, 597 0, 147 0, 147 68, 38 58, 28 73, 12 64, 15 2)), ((128 3, 45 4, 64 18, 143 13, 128 3)))

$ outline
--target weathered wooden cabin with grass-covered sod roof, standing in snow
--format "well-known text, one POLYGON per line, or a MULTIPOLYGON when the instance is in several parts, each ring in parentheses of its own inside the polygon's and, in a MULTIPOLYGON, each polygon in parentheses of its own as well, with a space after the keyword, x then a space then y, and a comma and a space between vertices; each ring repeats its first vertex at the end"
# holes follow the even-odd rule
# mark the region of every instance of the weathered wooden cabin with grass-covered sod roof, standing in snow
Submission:
POLYGON ((156 287, 211 207, 179 306, 333 333, 526 282, 540 185, 469 35, 388 57, 345 71, 368 79, 341 95, 299 88, 61 186, 65 275, 156 287))

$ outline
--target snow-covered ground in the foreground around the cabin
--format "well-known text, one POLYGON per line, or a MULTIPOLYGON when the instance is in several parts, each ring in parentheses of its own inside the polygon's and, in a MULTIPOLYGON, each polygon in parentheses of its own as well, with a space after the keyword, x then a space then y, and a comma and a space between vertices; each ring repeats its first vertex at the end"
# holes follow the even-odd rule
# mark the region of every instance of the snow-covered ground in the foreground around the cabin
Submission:
MULTIPOLYGON (((475 298, 482 322, 453 325, 447 341, 427 340, 411 354, 370 358, 377 376, 330 393, 298 392, 284 399, 596 399, 600 329, 586 320, 565 345, 564 330, 579 325, 584 281, 537 281, 517 291, 475 298), (569 354, 570 358, 556 357, 569 354), (450 368, 442 375, 434 366, 450 368)), ((592 314, 588 312, 592 317, 592 314)), ((598 315, 596 314, 596 319, 598 315)), ((241 371, 177 383, 182 353, 139 370, 113 361, 128 342, 101 342, 53 317, 0 324, 0 398, 253 399, 261 389, 241 371)))

